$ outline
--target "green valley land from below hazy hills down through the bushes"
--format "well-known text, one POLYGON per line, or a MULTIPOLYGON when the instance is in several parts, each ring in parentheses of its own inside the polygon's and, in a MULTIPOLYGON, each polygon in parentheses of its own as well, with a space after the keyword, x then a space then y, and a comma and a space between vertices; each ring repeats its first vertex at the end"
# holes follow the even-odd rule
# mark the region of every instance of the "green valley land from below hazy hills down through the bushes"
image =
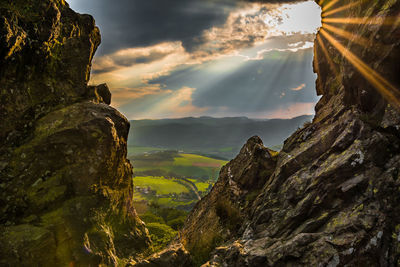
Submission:
POLYGON ((136 150, 128 153, 134 167, 135 208, 158 251, 174 238, 187 212, 208 193, 227 161, 151 147, 128 149, 136 150))

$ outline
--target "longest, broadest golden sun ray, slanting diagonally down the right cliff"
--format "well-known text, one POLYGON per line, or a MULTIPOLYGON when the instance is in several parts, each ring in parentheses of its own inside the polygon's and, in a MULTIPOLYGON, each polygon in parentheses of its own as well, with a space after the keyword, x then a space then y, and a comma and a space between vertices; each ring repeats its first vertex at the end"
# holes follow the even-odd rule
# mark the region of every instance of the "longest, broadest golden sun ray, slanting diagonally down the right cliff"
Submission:
POLYGON ((378 89, 389 103, 400 108, 400 93, 396 87, 339 43, 339 41, 337 41, 326 30, 320 29, 320 33, 361 73, 361 75, 364 76, 367 81, 378 89))

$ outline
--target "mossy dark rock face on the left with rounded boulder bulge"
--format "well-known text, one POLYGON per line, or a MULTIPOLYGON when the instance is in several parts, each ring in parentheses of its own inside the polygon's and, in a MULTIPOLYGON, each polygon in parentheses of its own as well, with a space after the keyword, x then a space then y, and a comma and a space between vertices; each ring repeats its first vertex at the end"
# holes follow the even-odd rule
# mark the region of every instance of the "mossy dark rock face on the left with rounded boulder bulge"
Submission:
POLYGON ((109 266, 149 245, 129 122, 87 86, 100 34, 64 0, 0 3, 0 265, 109 266))

